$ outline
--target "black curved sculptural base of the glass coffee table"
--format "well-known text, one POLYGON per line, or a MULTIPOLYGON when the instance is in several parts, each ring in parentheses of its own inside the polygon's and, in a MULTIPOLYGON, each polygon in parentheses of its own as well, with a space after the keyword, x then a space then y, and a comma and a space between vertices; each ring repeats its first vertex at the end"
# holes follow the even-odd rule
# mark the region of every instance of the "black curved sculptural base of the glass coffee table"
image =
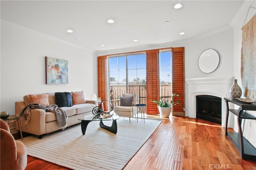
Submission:
MULTIPOLYGON (((82 134, 84 135, 87 129, 88 124, 91 122, 92 120, 82 120, 81 122, 81 129, 82 129, 82 134)), ((111 126, 106 126, 103 124, 103 121, 100 121, 100 127, 103 129, 106 129, 107 131, 110 131, 114 134, 117 133, 117 123, 116 120, 113 120, 112 125, 111 126)))

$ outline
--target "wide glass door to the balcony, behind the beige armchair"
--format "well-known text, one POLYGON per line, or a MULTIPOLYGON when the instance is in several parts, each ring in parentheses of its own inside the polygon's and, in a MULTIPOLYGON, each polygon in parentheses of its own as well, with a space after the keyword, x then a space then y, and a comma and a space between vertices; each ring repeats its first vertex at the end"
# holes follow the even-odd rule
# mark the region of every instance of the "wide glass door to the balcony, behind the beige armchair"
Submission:
POLYGON ((109 57, 109 95, 114 106, 123 94, 137 94, 146 103, 146 54, 109 57))

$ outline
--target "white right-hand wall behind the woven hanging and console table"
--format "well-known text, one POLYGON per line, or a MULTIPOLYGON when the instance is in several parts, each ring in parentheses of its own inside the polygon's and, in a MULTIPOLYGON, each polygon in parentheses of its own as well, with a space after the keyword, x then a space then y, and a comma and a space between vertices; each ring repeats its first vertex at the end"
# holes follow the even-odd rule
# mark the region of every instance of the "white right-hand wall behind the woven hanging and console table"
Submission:
MULTIPOLYGON (((234 25, 233 25, 233 36, 234 36, 234 43, 233 43, 233 53, 234 53, 234 77, 238 79, 238 85, 242 88, 242 80, 241 80, 241 48, 242 48, 242 26, 243 24, 246 24, 254 14, 256 14, 256 10, 253 8, 249 9, 249 6, 251 2, 246 3, 247 6, 244 8, 243 13, 238 16, 240 18, 234 25), (248 16, 246 17, 248 11, 248 16)), ((253 2, 252 6, 256 7, 256 1, 253 2)), ((256 86, 256 85, 255 85, 256 86)), ((243 90, 243 89, 242 89, 243 90)), ((242 94, 243 96, 243 94, 242 94)), ((238 107, 236 106, 236 109, 238 107)), ((248 111, 248 113, 256 116, 256 111, 248 111)), ((231 114, 232 115, 232 114, 231 114)), ((237 126, 237 117, 232 116, 232 121, 234 124, 233 129, 238 131, 238 126, 237 126)), ((245 120, 244 125, 243 125, 243 131, 244 131, 244 136, 256 147, 256 120, 245 120), (250 125, 251 124, 251 125, 250 125)))

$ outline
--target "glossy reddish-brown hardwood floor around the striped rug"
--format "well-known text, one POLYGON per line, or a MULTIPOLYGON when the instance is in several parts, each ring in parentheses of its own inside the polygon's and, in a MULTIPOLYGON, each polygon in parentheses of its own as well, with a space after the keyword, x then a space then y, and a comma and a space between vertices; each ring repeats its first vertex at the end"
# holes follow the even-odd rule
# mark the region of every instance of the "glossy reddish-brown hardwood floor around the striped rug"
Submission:
MULTIPOLYGON (((28 156, 26 170, 35 169, 67 168, 28 156)), ((224 127, 182 116, 163 118, 160 126, 124 167, 124 170, 211 169, 256 170, 256 162, 240 158, 238 151, 225 136, 224 127)))

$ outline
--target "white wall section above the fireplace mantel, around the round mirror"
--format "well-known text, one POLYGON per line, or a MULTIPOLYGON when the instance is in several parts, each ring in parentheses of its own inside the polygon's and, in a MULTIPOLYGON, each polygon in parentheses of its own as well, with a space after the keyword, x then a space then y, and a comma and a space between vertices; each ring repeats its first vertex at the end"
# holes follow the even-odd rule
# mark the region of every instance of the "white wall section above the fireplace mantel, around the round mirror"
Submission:
POLYGON ((186 78, 232 76, 233 75, 233 31, 227 31, 191 42, 185 48, 186 78), (204 73, 198 67, 198 58, 206 49, 215 49, 220 55, 218 68, 211 73, 204 73))

